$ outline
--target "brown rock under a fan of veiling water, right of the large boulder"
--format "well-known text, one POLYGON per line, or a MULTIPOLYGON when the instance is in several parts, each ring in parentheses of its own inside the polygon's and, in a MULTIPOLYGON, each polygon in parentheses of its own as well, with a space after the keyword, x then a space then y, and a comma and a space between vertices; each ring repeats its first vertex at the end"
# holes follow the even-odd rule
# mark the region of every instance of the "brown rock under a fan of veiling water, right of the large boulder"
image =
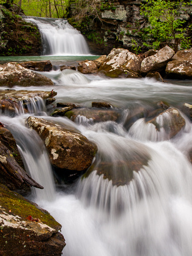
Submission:
MULTIPOLYGON (((86 171, 84 177, 96 171, 97 175, 112 181, 112 185, 120 186, 129 184, 133 179, 133 172, 138 172, 148 165, 151 156, 147 147, 133 141, 127 141, 126 146, 122 141, 123 154, 120 155, 119 143, 111 144, 110 152, 115 149, 115 155, 107 155, 107 152, 100 152, 95 162, 86 171)), ((99 148, 100 149, 100 148, 99 148)))

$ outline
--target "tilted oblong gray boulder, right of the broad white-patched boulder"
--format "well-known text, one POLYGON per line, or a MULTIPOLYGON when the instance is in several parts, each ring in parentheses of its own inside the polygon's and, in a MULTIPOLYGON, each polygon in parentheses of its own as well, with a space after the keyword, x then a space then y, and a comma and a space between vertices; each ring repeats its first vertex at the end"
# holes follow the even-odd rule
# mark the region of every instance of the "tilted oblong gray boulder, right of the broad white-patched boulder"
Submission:
POLYGON ((173 49, 165 46, 155 55, 149 56, 141 62, 141 73, 161 72, 173 55, 173 49))

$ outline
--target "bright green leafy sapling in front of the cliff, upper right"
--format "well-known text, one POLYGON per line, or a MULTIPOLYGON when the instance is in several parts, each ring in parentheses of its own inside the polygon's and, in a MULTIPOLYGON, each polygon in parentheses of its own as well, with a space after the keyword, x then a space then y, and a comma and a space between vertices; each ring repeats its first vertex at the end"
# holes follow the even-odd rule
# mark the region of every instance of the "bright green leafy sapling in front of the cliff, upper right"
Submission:
POLYGON ((186 37, 186 29, 183 28, 185 21, 180 19, 179 11, 185 7, 183 1, 170 0, 147 0, 141 8, 141 14, 148 18, 149 26, 143 29, 143 38, 146 39, 145 46, 158 49, 165 44, 178 50, 190 47, 190 38, 186 37), (151 38, 155 42, 151 42, 151 38))

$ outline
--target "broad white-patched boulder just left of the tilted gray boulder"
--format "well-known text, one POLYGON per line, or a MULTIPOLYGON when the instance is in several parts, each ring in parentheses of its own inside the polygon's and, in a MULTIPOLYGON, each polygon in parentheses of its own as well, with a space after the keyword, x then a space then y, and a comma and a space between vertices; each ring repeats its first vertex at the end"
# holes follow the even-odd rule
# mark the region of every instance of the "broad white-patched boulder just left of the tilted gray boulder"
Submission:
POLYGON ((112 49, 107 59, 103 62, 98 72, 106 76, 116 77, 140 77, 141 57, 127 49, 112 49))

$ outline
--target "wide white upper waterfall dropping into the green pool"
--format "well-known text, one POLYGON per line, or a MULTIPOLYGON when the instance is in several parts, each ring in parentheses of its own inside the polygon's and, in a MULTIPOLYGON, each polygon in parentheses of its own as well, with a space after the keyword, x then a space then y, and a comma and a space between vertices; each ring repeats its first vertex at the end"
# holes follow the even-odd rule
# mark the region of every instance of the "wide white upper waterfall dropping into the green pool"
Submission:
POLYGON ((84 36, 66 19, 23 17, 35 23, 43 40, 43 55, 89 55, 84 36))

